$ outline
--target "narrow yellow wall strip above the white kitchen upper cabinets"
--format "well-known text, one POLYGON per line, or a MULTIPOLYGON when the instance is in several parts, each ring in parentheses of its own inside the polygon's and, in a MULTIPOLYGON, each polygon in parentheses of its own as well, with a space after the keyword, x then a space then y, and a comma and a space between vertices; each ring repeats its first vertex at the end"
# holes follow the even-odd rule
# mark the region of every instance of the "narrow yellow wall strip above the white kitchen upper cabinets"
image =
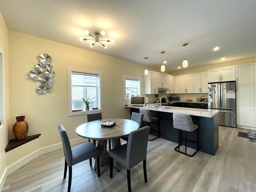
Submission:
POLYGON ((172 75, 185 75, 185 74, 191 74, 191 73, 200 73, 200 72, 205 72, 209 69, 229 67, 229 66, 238 66, 238 65, 253 63, 253 62, 255 62, 255 58, 248 58, 248 59, 231 61, 231 62, 223 62, 223 63, 219 63, 219 64, 216 64, 216 65, 172 71, 172 72, 170 72, 170 74, 172 74, 172 75))

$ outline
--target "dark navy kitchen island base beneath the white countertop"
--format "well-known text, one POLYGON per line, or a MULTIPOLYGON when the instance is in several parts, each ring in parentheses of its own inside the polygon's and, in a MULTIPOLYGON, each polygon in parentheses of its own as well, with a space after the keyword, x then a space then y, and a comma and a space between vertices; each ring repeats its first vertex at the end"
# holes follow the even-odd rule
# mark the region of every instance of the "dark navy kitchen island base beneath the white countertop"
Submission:
MULTIPOLYGON (((131 114, 132 112, 139 113, 139 109, 131 108, 131 114)), ((178 130, 173 126, 173 113, 151 111, 151 114, 160 119, 160 137, 178 143, 178 130)), ((219 147, 219 115, 212 118, 191 117, 199 125, 199 151, 215 155, 219 147)), ((157 123, 151 123, 151 134, 157 136, 157 123)), ((187 133, 187 139, 197 141, 197 133, 187 133)), ((187 146, 197 148, 194 143, 188 142, 187 146)))

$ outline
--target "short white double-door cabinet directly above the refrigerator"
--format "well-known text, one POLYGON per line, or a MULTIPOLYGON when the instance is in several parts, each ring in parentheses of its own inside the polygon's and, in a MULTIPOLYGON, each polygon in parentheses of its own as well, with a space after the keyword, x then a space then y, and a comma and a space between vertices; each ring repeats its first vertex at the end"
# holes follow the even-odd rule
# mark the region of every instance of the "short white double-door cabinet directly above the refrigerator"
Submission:
POLYGON ((208 82, 234 81, 236 80, 236 71, 232 68, 211 70, 208 72, 208 82))

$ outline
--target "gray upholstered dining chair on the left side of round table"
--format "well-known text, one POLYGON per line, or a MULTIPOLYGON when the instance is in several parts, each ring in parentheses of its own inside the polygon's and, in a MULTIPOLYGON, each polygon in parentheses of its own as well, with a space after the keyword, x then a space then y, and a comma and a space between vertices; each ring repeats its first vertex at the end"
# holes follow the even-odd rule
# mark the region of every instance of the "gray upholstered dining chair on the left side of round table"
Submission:
POLYGON ((64 179, 67 176, 67 169, 69 167, 68 191, 70 191, 71 189, 72 165, 75 165, 87 159, 91 159, 92 157, 97 157, 98 177, 100 177, 98 148, 91 142, 82 143, 71 148, 69 138, 64 127, 62 125, 59 125, 58 130, 62 141, 65 156, 65 169, 63 177, 64 179))

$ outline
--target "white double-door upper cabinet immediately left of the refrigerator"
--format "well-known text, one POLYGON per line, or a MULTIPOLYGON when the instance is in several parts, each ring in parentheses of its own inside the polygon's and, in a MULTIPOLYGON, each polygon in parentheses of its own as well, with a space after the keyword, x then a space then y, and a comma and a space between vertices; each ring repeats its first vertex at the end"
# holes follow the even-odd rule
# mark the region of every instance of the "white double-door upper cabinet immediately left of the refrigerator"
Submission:
POLYGON ((208 75, 207 73, 193 74, 193 93, 208 92, 208 75))

